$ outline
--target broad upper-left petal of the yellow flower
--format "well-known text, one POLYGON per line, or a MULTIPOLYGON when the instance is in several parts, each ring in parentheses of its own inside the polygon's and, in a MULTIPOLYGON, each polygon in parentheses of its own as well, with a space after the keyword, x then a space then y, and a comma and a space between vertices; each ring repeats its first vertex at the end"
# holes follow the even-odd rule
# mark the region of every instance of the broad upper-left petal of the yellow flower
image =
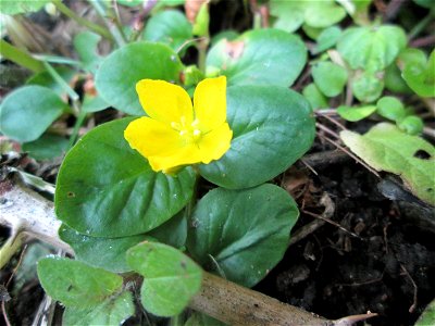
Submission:
POLYGON ((164 80, 142 79, 136 91, 145 112, 160 122, 171 124, 184 121, 190 124, 194 111, 189 95, 183 87, 164 80))

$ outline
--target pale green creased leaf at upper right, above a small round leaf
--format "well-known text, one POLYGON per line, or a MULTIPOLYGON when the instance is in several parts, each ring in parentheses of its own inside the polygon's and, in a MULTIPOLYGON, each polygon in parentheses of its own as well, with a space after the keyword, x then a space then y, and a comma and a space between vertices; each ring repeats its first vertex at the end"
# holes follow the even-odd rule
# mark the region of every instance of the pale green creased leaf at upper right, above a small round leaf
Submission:
POLYGON ((352 70, 383 71, 405 48, 407 37, 398 26, 350 27, 338 41, 337 50, 352 70))

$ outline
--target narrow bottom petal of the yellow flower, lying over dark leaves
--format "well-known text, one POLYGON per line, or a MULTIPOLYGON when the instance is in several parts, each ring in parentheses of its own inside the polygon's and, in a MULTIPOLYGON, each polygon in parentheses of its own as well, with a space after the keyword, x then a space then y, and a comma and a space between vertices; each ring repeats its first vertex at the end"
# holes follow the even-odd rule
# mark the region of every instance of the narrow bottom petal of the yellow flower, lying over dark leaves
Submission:
POLYGON ((150 156, 148 162, 156 172, 167 171, 171 173, 174 167, 201 162, 201 153, 198 147, 191 143, 167 155, 150 156))

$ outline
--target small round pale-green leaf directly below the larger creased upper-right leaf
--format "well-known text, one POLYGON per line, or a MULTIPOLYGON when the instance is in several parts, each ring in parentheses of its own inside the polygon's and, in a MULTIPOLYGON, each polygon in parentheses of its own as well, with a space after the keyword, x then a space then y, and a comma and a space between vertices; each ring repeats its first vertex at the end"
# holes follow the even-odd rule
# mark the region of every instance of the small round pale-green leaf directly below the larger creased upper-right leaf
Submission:
POLYGON ((352 80, 353 96, 361 102, 373 102, 384 90, 382 75, 364 72, 352 80))

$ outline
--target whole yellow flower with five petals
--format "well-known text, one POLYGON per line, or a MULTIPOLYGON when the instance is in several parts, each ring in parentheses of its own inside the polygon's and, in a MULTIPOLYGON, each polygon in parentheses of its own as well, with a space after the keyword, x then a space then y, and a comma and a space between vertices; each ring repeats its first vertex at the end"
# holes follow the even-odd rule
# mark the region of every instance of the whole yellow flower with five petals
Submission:
POLYGON ((148 116, 129 123, 124 137, 148 159, 156 172, 210 163, 229 149, 233 131, 226 122, 226 78, 208 78, 190 97, 179 86, 142 79, 136 84, 148 116))

